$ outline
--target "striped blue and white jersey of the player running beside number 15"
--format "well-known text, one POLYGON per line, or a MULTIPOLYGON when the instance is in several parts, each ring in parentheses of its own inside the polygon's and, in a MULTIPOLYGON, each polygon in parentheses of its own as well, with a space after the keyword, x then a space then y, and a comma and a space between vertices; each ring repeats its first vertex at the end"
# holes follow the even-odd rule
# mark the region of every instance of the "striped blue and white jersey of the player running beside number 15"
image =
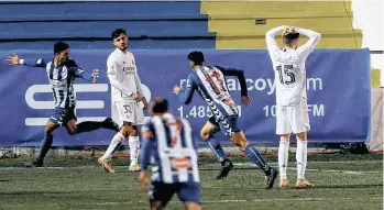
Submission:
POLYGON ((242 70, 222 66, 199 66, 188 75, 187 87, 177 93, 184 104, 189 104, 196 90, 208 103, 217 119, 239 113, 232 99, 224 76, 237 76, 240 81, 241 95, 248 96, 244 74, 242 70))

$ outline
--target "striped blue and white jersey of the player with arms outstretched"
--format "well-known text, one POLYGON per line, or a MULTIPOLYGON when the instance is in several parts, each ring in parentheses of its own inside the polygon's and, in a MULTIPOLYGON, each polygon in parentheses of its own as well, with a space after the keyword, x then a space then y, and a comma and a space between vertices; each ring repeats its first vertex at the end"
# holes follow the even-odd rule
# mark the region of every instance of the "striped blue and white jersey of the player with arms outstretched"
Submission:
POLYGON ((54 62, 45 63, 44 59, 24 59, 23 65, 31 67, 42 67, 46 69, 46 75, 53 91, 55 108, 73 108, 76 106, 76 95, 74 81, 76 77, 91 81, 92 76, 78 67, 73 59, 67 59, 57 68, 54 62))

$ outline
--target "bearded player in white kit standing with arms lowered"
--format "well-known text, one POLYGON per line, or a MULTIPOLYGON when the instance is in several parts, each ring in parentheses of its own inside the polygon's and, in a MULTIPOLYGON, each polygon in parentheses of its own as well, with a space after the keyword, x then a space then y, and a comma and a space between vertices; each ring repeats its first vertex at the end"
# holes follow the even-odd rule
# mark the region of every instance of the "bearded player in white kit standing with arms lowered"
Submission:
POLYGON ((129 137, 131 157, 129 170, 139 172, 140 141, 138 125, 144 123, 144 113, 139 107, 139 102, 142 101, 144 109, 147 109, 147 101, 141 89, 134 56, 131 52, 127 51, 128 36, 125 31, 117 29, 112 32, 111 36, 116 49, 108 57, 107 75, 112 86, 112 101, 123 125, 113 136, 108 150, 98 159, 98 163, 107 172, 114 173, 111 164, 112 154, 129 137))

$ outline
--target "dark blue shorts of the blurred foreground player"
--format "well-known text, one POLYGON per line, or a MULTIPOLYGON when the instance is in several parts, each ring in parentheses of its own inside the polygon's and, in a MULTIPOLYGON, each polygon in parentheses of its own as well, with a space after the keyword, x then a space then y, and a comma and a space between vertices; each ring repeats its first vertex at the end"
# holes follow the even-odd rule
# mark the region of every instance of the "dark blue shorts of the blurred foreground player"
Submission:
POLYGON ((162 181, 152 181, 149 188, 151 207, 156 202, 162 202, 164 208, 174 194, 177 194, 178 199, 183 202, 201 203, 199 183, 164 184, 162 181))

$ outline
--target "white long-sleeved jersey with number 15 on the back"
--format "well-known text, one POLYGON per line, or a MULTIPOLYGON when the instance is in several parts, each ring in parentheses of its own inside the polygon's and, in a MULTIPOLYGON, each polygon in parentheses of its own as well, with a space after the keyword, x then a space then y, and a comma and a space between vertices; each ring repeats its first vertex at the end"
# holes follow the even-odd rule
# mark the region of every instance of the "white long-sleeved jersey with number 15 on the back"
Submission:
POLYGON ((276 104, 294 106, 307 98, 305 62, 321 35, 310 30, 296 29, 297 33, 309 37, 308 42, 297 49, 281 49, 275 36, 283 30, 282 26, 270 30, 266 33, 266 46, 275 73, 276 104))

